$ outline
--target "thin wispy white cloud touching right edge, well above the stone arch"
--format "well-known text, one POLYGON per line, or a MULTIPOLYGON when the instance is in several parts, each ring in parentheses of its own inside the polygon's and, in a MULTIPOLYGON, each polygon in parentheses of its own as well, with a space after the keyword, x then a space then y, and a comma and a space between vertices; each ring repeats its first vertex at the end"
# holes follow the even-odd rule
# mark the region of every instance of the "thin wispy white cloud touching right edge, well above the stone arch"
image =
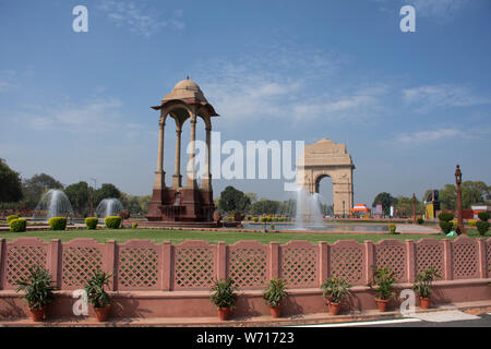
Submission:
POLYGON ((469 88, 451 84, 426 85, 403 91, 403 99, 427 112, 442 107, 471 107, 490 104, 491 97, 476 96, 469 88))

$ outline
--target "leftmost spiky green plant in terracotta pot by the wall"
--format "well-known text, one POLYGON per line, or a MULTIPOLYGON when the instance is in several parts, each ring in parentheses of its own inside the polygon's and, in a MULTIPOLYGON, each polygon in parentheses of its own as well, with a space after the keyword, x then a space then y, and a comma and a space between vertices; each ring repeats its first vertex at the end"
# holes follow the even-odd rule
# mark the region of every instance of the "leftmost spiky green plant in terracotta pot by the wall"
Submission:
POLYGON ((46 306, 55 300, 55 286, 51 275, 41 266, 31 267, 27 278, 21 277, 15 281, 16 292, 24 291, 24 300, 35 322, 46 317, 46 306))

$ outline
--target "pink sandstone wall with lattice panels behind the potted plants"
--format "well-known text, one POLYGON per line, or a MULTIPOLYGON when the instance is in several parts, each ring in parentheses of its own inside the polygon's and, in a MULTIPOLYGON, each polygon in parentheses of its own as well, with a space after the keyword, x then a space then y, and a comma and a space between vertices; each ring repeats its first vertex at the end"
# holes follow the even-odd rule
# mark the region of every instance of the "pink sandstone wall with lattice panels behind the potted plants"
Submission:
POLYGON ((288 281, 286 314, 325 311, 319 286, 333 275, 355 286, 347 308, 375 309, 373 292, 366 287, 371 265, 394 269, 399 288, 410 288, 417 273, 435 267, 442 275, 433 294, 435 302, 491 299, 491 239, 332 244, 240 241, 228 245, 205 241, 154 244, 146 240, 117 244, 92 239, 61 243, 27 238, 12 242, 0 239, 0 317, 26 315, 23 300, 13 291, 14 282, 37 263, 51 272, 60 289, 50 306, 56 316, 72 315, 75 300, 71 291, 83 288, 96 267, 113 273, 112 315, 121 317, 214 316, 209 287, 216 278, 226 277, 232 277, 243 292, 236 315, 267 314, 261 290, 274 277, 288 281))

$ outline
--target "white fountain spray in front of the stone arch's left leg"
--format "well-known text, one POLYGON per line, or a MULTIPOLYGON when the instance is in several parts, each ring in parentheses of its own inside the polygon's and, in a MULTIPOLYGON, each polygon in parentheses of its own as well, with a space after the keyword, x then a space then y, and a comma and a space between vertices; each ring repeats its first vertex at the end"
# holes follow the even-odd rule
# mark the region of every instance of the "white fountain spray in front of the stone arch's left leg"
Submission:
POLYGON ((311 194, 304 188, 297 189, 297 230, 306 230, 306 222, 313 227, 324 226, 320 200, 319 193, 311 194))

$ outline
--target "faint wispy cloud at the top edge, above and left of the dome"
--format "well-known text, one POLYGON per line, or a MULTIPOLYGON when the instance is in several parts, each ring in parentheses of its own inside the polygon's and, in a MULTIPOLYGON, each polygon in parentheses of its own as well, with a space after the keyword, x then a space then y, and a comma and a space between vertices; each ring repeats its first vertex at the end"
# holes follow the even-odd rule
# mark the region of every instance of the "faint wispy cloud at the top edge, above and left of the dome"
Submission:
POLYGON ((175 10, 166 17, 157 10, 149 8, 146 1, 104 0, 98 9, 118 26, 124 26, 130 32, 151 36, 163 27, 183 29, 182 10, 175 10))

